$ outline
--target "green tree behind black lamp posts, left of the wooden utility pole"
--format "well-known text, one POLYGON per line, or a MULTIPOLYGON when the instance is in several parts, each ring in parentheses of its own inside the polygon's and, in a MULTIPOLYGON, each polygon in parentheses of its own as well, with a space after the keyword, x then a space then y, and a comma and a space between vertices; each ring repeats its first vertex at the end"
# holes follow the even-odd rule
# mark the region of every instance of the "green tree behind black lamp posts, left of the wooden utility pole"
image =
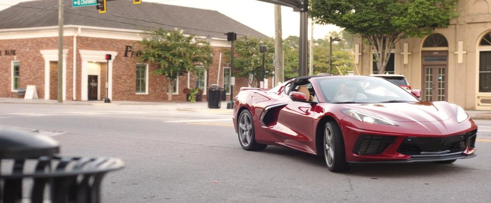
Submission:
MULTIPOLYGON (((264 77, 273 76, 273 59, 275 48, 272 39, 264 39, 244 36, 234 42, 234 75, 238 77, 247 77, 251 87, 259 87, 259 81, 262 81, 262 53, 259 52, 259 46, 266 45, 264 55, 264 77)), ((230 62, 230 49, 225 49, 226 60, 230 62)))

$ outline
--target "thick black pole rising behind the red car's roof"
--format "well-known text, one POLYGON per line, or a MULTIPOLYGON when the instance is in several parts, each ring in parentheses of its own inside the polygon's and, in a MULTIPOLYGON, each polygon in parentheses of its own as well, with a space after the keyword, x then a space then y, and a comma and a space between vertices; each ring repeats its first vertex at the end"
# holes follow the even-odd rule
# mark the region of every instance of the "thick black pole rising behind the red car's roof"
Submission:
POLYGON ((307 11, 300 12, 300 47, 298 57, 298 76, 307 75, 307 29, 308 15, 307 11))

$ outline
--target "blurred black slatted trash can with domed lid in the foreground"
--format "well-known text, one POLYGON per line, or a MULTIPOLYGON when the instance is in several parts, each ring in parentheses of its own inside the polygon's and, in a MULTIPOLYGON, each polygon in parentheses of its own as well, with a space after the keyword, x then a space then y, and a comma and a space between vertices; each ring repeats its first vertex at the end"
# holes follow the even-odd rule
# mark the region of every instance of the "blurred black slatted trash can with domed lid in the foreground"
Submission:
POLYGON ((0 128, 0 202, 100 202, 103 176, 124 166, 117 158, 58 153, 51 137, 0 128))

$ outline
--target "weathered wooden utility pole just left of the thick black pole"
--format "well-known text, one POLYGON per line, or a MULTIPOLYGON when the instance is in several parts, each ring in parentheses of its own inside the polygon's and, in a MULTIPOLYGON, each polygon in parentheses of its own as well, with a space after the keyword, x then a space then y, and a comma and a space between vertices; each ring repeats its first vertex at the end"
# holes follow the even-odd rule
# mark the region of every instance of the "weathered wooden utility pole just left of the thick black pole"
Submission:
MULTIPOLYGON (((275 83, 283 83, 283 31, 281 27, 281 6, 275 5, 275 83)), ((276 87, 277 84, 273 84, 276 87)))

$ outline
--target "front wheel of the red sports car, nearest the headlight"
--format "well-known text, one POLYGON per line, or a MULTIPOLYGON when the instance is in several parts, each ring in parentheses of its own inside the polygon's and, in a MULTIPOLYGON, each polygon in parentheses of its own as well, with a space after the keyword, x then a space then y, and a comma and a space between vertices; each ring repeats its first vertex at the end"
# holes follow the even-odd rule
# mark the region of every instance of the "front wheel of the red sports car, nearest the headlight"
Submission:
POLYGON ((335 121, 329 121, 324 125, 324 160, 327 168, 332 172, 349 170, 344 150, 344 140, 341 129, 335 121))

